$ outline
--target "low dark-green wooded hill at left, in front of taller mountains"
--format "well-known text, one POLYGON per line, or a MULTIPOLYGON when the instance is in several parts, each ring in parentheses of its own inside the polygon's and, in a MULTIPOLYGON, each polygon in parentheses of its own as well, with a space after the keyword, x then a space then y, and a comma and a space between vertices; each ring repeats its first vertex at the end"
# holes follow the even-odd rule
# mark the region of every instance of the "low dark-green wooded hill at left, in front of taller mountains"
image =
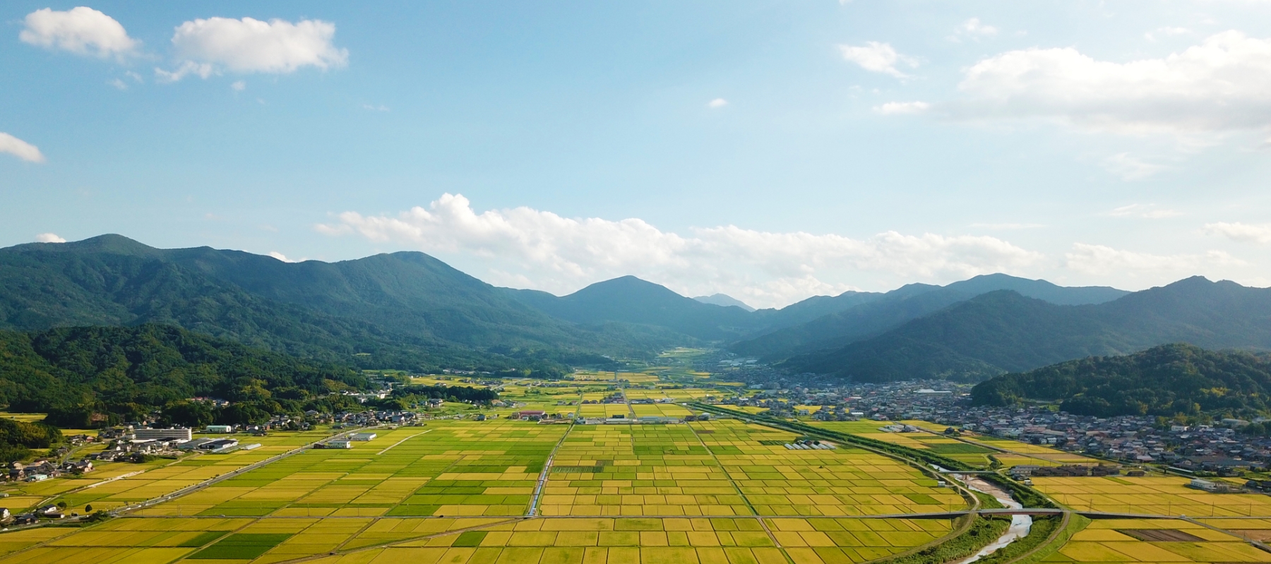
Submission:
POLYGON ((327 405, 334 401, 329 393, 366 386, 366 377, 348 366, 172 325, 0 330, 0 405, 50 413, 64 427, 189 409, 186 400, 193 396, 231 400, 221 418, 247 422, 327 405))

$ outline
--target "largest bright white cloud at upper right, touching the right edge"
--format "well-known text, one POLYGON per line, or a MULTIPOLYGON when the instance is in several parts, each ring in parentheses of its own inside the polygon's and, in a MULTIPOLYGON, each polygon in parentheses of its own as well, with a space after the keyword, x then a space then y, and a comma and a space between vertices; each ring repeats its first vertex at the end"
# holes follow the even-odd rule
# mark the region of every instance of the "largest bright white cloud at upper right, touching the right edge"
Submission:
POLYGON ((1098 61, 1075 48, 972 65, 947 105, 962 118, 1054 118, 1122 133, 1271 130, 1271 39, 1211 36, 1163 58, 1098 61))

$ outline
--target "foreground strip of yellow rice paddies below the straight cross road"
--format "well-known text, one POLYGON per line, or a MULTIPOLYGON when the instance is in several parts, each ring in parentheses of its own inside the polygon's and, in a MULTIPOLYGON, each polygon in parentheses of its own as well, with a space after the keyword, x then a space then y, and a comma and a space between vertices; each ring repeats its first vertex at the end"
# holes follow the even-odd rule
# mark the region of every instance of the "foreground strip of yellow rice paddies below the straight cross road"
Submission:
POLYGON ((327 555, 316 561, 841 564, 901 553, 948 532, 943 520, 132 517, 51 539, 0 563, 273 564, 327 555))

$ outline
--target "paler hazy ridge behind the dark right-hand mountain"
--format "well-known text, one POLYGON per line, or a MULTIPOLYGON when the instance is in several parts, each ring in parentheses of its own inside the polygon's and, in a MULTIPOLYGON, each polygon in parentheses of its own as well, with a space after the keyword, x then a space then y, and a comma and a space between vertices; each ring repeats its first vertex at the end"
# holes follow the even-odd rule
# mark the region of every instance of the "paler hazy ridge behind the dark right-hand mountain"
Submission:
POLYGON ((887 293, 869 295, 860 304, 799 325, 733 343, 730 349, 738 354, 778 361, 817 349, 843 347, 999 290, 1012 290, 1056 305, 1102 304, 1130 293, 1104 286, 1064 287, 1007 274, 976 276, 948 286, 914 283, 887 293))

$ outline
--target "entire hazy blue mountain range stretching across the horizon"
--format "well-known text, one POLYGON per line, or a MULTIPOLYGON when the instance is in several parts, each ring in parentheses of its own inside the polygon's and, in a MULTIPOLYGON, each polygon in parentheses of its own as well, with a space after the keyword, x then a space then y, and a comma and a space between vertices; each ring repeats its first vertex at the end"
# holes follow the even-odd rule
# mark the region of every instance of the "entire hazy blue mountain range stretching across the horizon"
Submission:
POLYGON ((1271 291, 1199 277, 1126 292, 989 274, 744 306, 636 277, 498 288, 413 252, 283 263, 118 235, 0 249, 0 329, 160 323, 358 367, 559 373, 718 346, 796 372, 982 380, 1172 342, 1271 349, 1271 291))

